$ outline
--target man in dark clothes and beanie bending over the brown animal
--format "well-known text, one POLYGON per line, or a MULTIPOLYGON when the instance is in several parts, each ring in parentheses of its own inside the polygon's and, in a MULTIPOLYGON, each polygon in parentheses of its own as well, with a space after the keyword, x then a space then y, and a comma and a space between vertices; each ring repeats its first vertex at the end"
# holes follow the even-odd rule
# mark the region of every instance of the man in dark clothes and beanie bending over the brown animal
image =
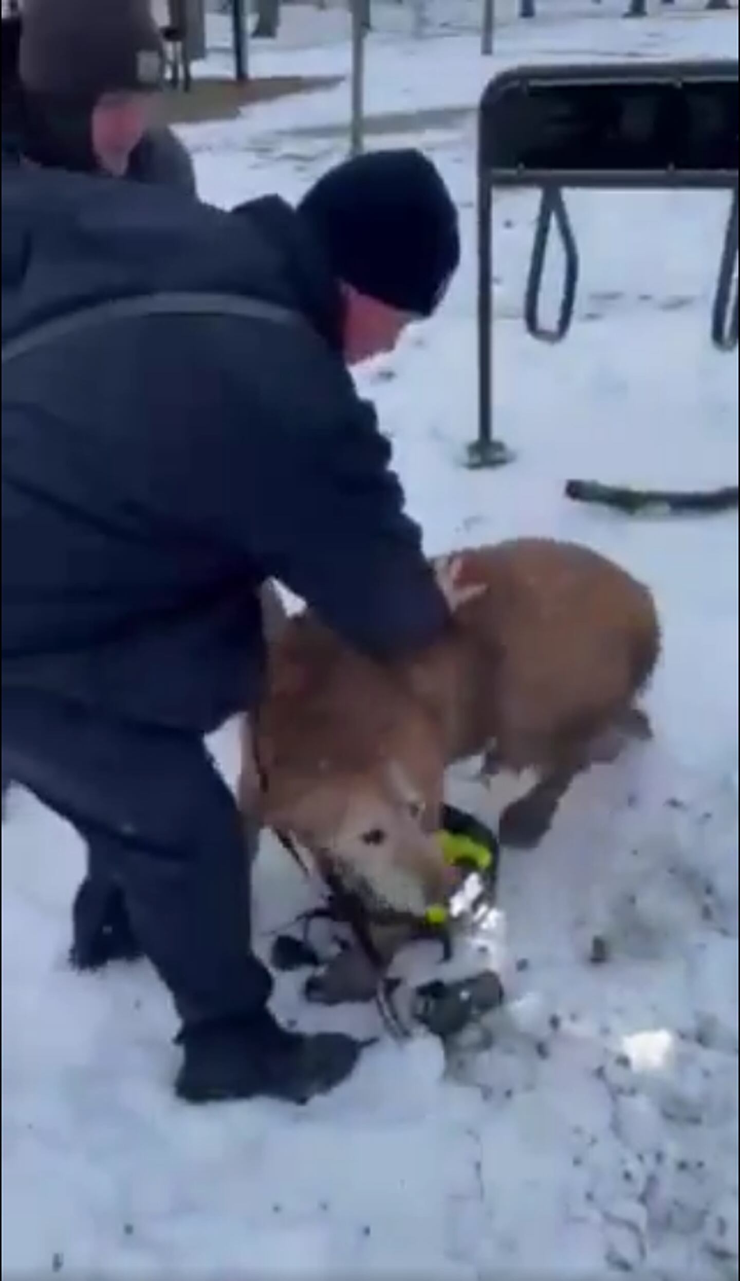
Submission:
POLYGON ((429 316, 457 216, 415 151, 297 210, 17 165, 3 182, 3 767, 88 844, 181 1018, 189 1100, 303 1102, 358 1044, 270 1013, 204 735, 260 697, 260 587, 378 657, 449 607, 347 365, 429 316))

